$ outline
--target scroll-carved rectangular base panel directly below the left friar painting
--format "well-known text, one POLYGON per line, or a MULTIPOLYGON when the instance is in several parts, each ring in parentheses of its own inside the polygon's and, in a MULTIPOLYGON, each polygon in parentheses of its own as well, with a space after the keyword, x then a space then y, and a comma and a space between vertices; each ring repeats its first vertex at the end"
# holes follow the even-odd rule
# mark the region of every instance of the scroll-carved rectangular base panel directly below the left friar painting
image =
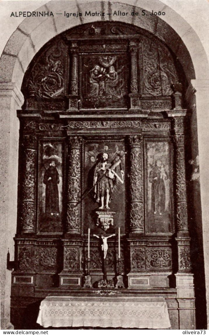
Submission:
POLYGON ((38 247, 35 249, 35 266, 50 269, 57 266, 57 248, 38 247))

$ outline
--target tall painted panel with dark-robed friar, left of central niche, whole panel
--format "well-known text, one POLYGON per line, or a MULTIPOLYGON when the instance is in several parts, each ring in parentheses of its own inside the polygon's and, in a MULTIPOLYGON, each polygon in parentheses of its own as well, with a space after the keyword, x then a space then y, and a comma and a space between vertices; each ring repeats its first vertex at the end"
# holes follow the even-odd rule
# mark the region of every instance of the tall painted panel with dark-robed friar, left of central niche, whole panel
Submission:
POLYGON ((40 166, 40 210, 41 232, 62 231, 62 144, 43 143, 40 166))

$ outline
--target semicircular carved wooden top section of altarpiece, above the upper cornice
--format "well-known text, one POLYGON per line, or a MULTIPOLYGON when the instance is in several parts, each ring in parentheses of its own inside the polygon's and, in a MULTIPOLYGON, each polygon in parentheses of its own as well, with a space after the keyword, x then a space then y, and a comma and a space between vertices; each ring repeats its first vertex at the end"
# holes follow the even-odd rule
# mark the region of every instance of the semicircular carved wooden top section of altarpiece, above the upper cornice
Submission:
POLYGON ((130 110, 130 94, 141 99, 142 109, 171 109, 178 83, 185 91, 183 69, 165 43, 140 27, 100 21, 71 28, 43 46, 24 75, 22 92, 29 110, 67 110, 69 98, 71 111, 130 110))

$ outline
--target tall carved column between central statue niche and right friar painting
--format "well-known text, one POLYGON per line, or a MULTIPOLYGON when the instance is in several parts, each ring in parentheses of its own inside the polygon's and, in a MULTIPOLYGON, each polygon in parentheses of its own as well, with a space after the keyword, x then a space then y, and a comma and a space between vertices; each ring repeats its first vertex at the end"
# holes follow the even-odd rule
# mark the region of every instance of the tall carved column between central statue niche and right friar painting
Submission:
POLYGON ((130 231, 144 233, 143 209, 143 140, 141 136, 129 136, 130 146, 130 231))

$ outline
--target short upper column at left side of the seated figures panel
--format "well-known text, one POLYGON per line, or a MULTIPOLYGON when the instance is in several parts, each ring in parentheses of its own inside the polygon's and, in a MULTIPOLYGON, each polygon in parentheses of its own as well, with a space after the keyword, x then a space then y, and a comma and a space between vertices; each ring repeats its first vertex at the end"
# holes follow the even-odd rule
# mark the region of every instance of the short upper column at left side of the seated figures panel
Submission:
POLYGON ((78 110, 78 46, 72 42, 70 47, 70 99, 69 110, 78 110))

